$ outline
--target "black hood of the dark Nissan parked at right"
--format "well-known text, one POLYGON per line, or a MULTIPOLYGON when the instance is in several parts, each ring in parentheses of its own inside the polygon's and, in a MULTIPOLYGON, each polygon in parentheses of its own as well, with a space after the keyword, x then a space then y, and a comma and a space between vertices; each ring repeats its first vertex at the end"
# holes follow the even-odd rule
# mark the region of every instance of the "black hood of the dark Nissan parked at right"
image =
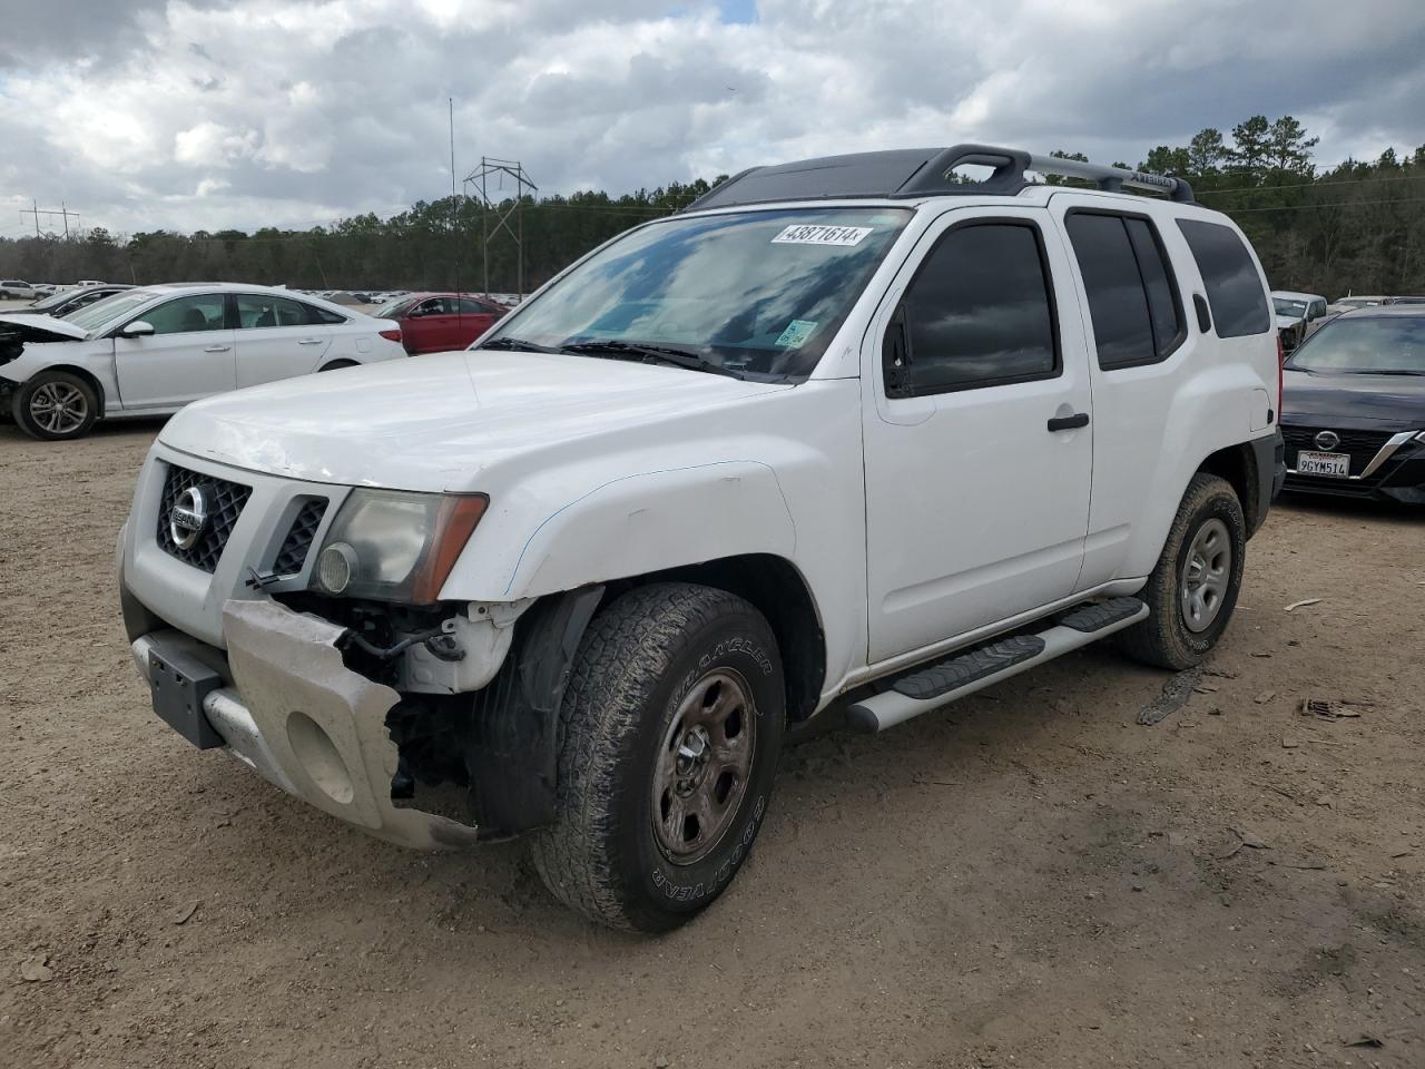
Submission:
POLYGON ((1425 376, 1311 375, 1285 368, 1281 422, 1371 430, 1425 429, 1425 376))

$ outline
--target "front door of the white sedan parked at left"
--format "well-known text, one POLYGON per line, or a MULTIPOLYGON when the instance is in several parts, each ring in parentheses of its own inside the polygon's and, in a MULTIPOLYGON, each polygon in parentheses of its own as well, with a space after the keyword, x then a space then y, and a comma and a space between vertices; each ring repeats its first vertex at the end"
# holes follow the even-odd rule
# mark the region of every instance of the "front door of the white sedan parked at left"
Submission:
POLYGON ((227 328, 222 294, 177 296, 135 319, 154 332, 114 338, 118 399, 125 409, 180 408, 234 388, 234 332, 227 328))

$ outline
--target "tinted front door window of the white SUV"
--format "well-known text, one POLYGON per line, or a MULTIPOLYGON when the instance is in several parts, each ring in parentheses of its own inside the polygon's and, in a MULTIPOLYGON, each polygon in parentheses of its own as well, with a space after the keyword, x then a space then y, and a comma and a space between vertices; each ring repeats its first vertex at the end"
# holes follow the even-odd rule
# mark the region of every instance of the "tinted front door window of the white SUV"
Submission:
POLYGON ((905 346, 889 346, 898 355, 888 352, 886 368, 893 396, 1059 373, 1049 277, 1032 224, 946 232, 911 282, 898 319, 891 329, 903 331, 905 346))

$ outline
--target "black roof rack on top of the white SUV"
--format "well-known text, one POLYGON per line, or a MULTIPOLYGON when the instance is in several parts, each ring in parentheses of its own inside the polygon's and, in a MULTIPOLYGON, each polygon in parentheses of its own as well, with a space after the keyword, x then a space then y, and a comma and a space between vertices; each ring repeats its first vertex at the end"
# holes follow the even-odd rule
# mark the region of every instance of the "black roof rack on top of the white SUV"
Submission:
POLYGON ((772 167, 750 167, 703 194, 685 211, 789 200, 985 194, 1013 197, 1033 184, 1025 177, 1026 171, 1083 178, 1109 192, 1121 192, 1129 187, 1167 194, 1183 204, 1193 202, 1193 187, 1181 178, 1054 155, 1030 155, 1020 148, 962 144, 950 148, 896 148, 798 160, 772 167), (989 167, 992 171, 980 181, 963 181, 953 175, 953 171, 965 165, 989 167))

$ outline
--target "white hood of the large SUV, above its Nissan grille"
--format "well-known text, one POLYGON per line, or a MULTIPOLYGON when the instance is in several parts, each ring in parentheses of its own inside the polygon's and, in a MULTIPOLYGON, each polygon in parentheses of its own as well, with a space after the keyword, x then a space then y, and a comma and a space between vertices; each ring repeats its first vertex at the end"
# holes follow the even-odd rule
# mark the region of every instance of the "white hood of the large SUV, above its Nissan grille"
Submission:
POLYGON ((785 389, 589 356, 447 352, 208 398, 174 416, 160 440, 294 479, 470 490, 512 453, 785 389))

